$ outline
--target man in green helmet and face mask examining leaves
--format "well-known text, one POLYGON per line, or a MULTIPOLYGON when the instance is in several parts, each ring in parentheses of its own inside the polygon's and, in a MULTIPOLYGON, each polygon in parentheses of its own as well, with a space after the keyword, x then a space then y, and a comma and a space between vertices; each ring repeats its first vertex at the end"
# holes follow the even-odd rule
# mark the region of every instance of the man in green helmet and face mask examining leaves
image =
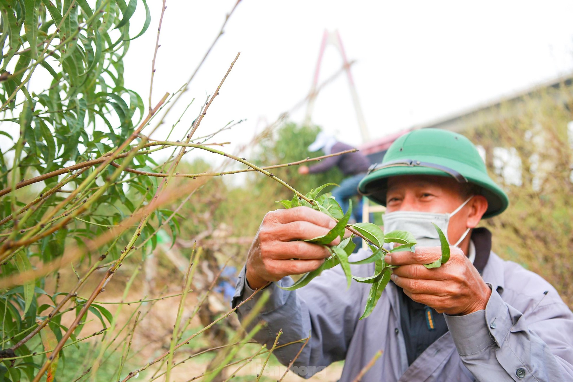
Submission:
MULTIPOLYGON (((354 380, 378 350, 382 356, 362 381, 573 380, 573 313, 551 284, 491 252, 491 233, 475 228, 482 217, 503 212, 508 198, 468 139, 430 128, 403 135, 359 188, 387 206, 386 230, 408 229, 417 237, 415 253, 386 256, 399 267, 371 315, 359 321, 370 284, 353 282, 346 290, 339 267, 296 291, 277 287, 328 256, 298 240, 323 235, 331 219, 302 207, 269 212, 233 302, 272 282, 260 313, 268 328, 257 341, 272 344, 279 329, 282 344, 310 333, 297 371, 308 377, 309 370, 346 360, 341 382, 354 380), (431 222, 447 232, 452 254, 441 267, 427 269, 423 264, 441 256, 431 222)), ((352 273, 370 276, 374 265, 352 266, 352 273)), ((240 318, 253 303, 238 309, 240 318)), ((300 347, 274 354, 288 364, 300 347)))

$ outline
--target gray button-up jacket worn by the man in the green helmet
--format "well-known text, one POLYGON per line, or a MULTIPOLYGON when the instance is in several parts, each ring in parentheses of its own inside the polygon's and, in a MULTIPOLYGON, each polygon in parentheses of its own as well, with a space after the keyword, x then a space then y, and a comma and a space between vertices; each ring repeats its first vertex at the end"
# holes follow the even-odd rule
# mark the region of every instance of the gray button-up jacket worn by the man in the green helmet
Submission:
MULTIPOLYGON (((366 256, 365 252, 360 250, 352 256, 356 260, 366 256)), ((351 267, 352 274, 358 276, 374 273, 374 264, 351 267)), ((449 332, 410 366, 397 287, 388 283, 370 317, 360 321, 370 284, 353 281, 347 290, 340 266, 324 271, 297 291, 270 284, 269 301, 260 313, 268 325, 255 339, 270 348, 279 329, 284 332, 282 344, 311 333, 311 340, 295 362, 296 371, 309 377, 332 362, 346 360, 340 382, 354 380, 380 349, 382 356, 363 382, 573 381, 573 313, 554 287, 493 252, 482 277, 493 291, 486 309, 464 316, 446 315, 449 332)), ((289 286, 293 281, 285 277, 278 283, 289 286)), ((233 306, 252 293, 243 268, 233 306)), ((252 309, 256 298, 237 310, 240 319, 252 309)), ((287 365, 300 347, 285 346, 274 354, 287 365)))

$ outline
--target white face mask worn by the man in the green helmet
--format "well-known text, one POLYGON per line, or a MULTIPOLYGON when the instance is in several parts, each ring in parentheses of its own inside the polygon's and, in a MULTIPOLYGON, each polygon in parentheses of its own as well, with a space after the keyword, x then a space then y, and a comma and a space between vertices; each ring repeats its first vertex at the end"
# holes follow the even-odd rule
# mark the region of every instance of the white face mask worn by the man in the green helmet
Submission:
MULTIPOLYGON (((456 213, 458 213, 458 211, 460 211, 460 209, 462 209, 470 201, 471 198, 473 198, 473 196, 470 196, 468 200, 463 202, 462 205, 456 208, 456 210, 452 213, 418 211, 396 211, 384 213, 384 215, 382 215, 382 221, 384 222, 384 232, 394 231, 395 229, 399 229, 400 231, 408 231, 414 235, 418 241, 418 245, 421 247, 438 247, 439 236, 432 223, 437 225, 442 230, 442 232, 444 232, 444 235, 446 235, 446 239, 448 239, 448 225, 450 223, 450 218, 456 215, 456 213)), ((450 243, 450 245, 453 247, 457 247, 468 235, 469 230, 469 228, 466 229, 464 235, 460 237, 456 244, 452 245, 449 239, 448 243, 450 243)))

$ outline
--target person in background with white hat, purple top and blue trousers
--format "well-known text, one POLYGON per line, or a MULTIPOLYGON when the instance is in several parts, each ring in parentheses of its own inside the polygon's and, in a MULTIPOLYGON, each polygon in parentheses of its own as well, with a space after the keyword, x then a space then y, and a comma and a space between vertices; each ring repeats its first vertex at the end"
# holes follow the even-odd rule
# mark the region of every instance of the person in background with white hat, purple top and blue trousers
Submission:
MULTIPOLYGON (((311 151, 312 153, 313 151, 322 149, 324 155, 330 155, 353 148, 354 147, 347 145, 346 143, 337 141, 333 135, 321 131, 316 136, 315 141, 308 146, 308 151, 311 151)), ((307 175, 323 173, 334 166, 338 166, 346 178, 340 182, 339 187, 332 191, 332 196, 335 197, 338 204, 340 204, 342 211, 346 213, 346 211, 348 211, 348 205, 350 204, 350 198, 358 195, 358 184, 366 175, 368 167, 370 167, 370 161, 366 155, 356 151, 355 153, 322 159, 320 163, 311 167, 300 166, 299 174, 307 175)), ((352 215, 354 216, 354 219, 356 221, 362 221, 362 198, 360 198, 358 205, 356 205, 353 210, 352 215)))

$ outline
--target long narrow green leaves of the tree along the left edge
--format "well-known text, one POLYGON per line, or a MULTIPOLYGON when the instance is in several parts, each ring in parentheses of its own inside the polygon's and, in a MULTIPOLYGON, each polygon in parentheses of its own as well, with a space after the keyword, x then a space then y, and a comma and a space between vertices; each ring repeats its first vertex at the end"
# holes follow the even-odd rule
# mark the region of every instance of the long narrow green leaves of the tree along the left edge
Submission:
MULTIPOLYGON (((125 172, 92 202, 90 198, 95 191, 114 173, 112 166, 93 177, 67 203, 69 193, 93 174, 92 167, 64 171, 14 190, 14 185, 23 179, 101 158, 134 132, 147 110, 138 93, 125 87, 123 58, 130 41, 146 32, 150 22, 146 0, 0 1, 0 138, 3 147, 7 147, 0 152, 0 190, 6 192, 12 188, 8 196, 0 196, 0 219, 15 217, 0 224, 1 244, 21 240, 34 227, 45 231, 90 201, 89 208, 78 219, 7 257, 8 253, 3 254, 3 277, 24 274, 42 263, 50 263, 60 258, 70 244, 84 248, 85 241, 109 233, 109 229, 118 227, 152 201, 157 178, 125 172), (143 26, 134 31, 130 26, 138 5, 144 7, 144 20, 136 21, 143 26), (47 192, 54 190, 46 197, 47 192), (54 208, 62 203, 61 211, 50 219, 54 208), (40 225, 42 219, 48 221, 40 225)), ((138 152, 129 166, 155 171, 159 165, 149 155, 150 151, 138 152)), ((171 210, 164 208, 150 213, 150 224, 144 225, 138 236, 140 243, 146 243, 143 255, 155 249, 156 227, 172 215, 171 210)), ((178 219, 175 215, 164 224, 170 228, 173 240, 179 232, 178 219)), ((100 252, 100 262, 105 258, 117 259, 125 249, 128 234, 125 229, 120 232, 112 245, 103 254, 100 252)), ((89 252, 86 255, 81 261, 91 265, 89 252)), ((48 280, 46 287, 46 279, 38 278, 1 291, 2 349, 23 340, 46 318, 50 320, 45 328, 15 348, 15 356, 32 356, 37 346, 53 349, 68 331, 68 326, 62 324, 62 314, 79 313, 85 301, 72 297, 71 308, 68 305, 49 316, 68 293, 57 291, 57 286, 51 293, 45 290, 52 291, 52 285, 48 280)), ((105 307, 92 304, 73 330, 70 341, 77 340, 85 322, 91 319, 107 328, 112 316, 105 307)), ((49 372, 55 369, 58 357, 65 358, 64 354, 54 356, 49 372)), ((32 380, 42 357, 45 360, 47 356, 40 353, 36 358, 3 361, 0 380, 32 380)))

